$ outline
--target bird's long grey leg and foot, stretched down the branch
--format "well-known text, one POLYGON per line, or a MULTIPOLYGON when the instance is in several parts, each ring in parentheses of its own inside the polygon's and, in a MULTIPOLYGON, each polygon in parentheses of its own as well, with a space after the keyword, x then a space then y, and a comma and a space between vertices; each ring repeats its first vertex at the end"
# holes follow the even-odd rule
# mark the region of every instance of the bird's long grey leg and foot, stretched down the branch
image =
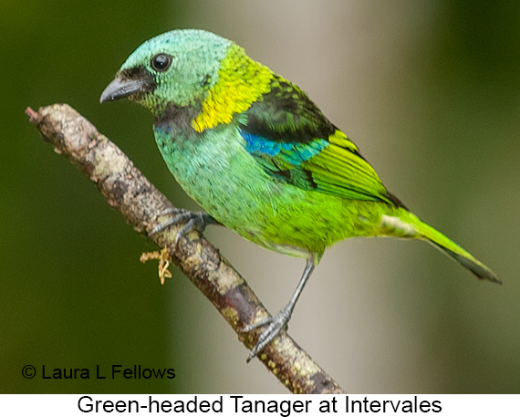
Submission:
POLYGON ((260 321, 257 321, 256 323, 250 324, 245 326, 241 331, 248 332, 253 330, 254 328, 259 328, 264 325, 269 325, 265 330, 262 332, 260 337, 258 338, 258 341, 256 342, 256 345, 253 349, 251 349, 251 352, 249 352, 249 357, 247 358, 247 362, 255 358, 255 356, 265 348, 265 346, 273 339, 275 339, 276 335, 282 330, 282 328, 285 328, 287 323, 289 322, 289 319, 291 318, 291 314, 293 314, 293 310, 296 306, 296 301, 298 300, 298 297, 300 297, 300 294, 303 291, 303 288, 307 284, 308 278, 312 274, 312 271, 314 270, 315 265, 315 255, 310 255, 307 259, 307 264, 305 266, 304 273, 302 277, 300 278, 300 281, 298 283, 298 286, 296 287, 296 290, 293 294, 293 297, 291 297, 291 300, 286 305, 285 308, 282 308, 280 311, 278 311, 278 314, 276 314, 275 317, 268 317, 264 318, 260 321))

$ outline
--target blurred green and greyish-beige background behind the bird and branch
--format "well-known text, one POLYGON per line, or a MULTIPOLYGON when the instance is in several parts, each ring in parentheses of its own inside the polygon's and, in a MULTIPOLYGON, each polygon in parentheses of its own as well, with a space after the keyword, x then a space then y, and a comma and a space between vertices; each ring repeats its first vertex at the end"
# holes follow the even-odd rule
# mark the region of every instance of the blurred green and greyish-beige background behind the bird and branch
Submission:
MULTIPOLYGON (((290 334, 349 392, 520 392, 520 4, 510 1, 2 0, 0 392, 267 393, 285 388, 178 271, 41 141, 24 109, 67 102, 172 202, 146 109, 99 95, 141 42, 173 28, 234 39, 307 90, 392 193, 504 280, 429 245, 328 251, 290 334), (38 374, 25 380, 21 370, 38 374), (41 379, 54 368, 173 368, 172 381, 41 379)), ((304 263, 206 235, 271 312, 304 263)))

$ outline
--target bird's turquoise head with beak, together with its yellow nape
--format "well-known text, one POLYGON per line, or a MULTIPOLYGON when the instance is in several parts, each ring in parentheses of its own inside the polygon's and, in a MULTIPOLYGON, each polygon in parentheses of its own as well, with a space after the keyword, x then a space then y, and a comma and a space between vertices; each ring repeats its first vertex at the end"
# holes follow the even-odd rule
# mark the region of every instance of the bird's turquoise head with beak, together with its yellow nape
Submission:
POLYGON ((156 116, 194 109, 194 130, 229 123, 268 93, 274 73, 224 37, 173 30, 146 41, 122 65, 100 101, 128 97, 156 116))

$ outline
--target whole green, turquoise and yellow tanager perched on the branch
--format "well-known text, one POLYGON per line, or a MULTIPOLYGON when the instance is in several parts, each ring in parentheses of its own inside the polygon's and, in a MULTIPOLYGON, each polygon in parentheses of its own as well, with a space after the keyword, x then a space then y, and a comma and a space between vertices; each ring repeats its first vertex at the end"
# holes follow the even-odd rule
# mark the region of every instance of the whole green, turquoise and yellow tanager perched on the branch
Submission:
POLYGON ((224 224, 306 266, 286 307, 261 328, 247 361, 286 328, 325 250, 358 236, 421 239, 480 279, 494 272, 390 193, 348 136, 291 81, 234 41, 199 29, 152 37, 123 63, 100 102, 128 98, 151 110, 155 141, 182 189, 205 212, 173 209, 193 229, 224 224))

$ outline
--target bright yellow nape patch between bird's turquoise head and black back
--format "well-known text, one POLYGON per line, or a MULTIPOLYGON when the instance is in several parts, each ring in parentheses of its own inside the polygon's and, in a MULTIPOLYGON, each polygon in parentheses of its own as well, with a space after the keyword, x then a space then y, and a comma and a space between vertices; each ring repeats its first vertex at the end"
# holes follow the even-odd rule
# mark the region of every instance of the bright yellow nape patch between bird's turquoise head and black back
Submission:
POLYGON ((245 55, 233 44, 221 63, 219 79, 208 91, 203 110, 192 120, 193 129, 203 131, 219 123, 229 123, 236 113, 249 109, 257 99, 270 91, 273 72, 245 55))

